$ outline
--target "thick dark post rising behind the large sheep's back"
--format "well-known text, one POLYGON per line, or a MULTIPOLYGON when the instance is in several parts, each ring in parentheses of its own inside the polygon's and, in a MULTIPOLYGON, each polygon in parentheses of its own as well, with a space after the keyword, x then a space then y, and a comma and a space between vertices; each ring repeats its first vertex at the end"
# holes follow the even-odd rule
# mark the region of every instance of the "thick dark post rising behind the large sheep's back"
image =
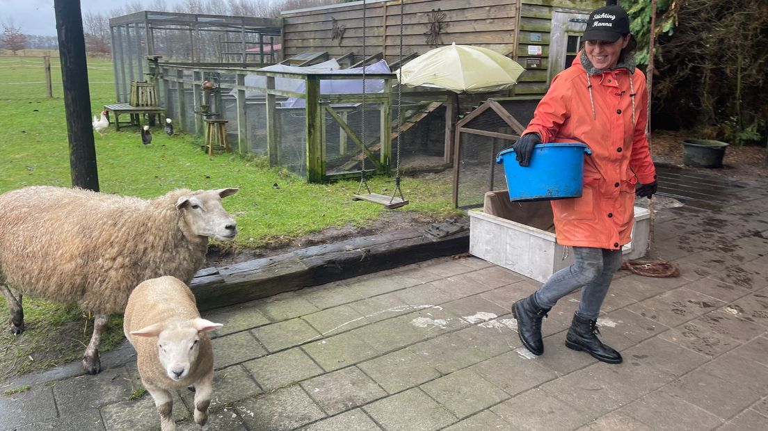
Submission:
POLYGON ((98 192, 96 146, 91 125, 91 92, 80 0, 55 0, 61 84, 69 139, 72 186, 98 192))

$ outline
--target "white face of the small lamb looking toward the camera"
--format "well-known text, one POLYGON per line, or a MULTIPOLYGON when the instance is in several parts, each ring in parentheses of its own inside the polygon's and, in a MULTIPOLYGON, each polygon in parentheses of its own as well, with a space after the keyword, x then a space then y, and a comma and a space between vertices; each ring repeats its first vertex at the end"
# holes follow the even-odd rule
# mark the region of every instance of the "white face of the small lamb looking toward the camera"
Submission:
POLYGON ((200 352, 200 335, 194 327, 171 327, 157 336, 157 355, 170 380, 187 377, 200 352))

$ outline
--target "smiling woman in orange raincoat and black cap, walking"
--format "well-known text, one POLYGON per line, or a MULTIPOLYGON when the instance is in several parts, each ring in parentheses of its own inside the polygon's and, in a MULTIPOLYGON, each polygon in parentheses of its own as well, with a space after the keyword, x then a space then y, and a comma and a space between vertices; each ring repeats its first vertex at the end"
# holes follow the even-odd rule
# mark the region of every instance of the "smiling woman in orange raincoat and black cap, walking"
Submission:
POLYGON ((631 55, 636 44, 621 7, 592 12, 582 40, 584 48, 571 67, 554 77, 513 146, 520 166, 528 166, 534 146, 542 142, 581 142, 592 150, 584 157, 582 196, 551 202, 558 243, 573 248, 576 262, 515 302, 512 313, 525 347, 543 354, 542 317, 558 299, 582 288, 565 345, 619 364, 621 354, 598 340, 596 322, 621 265, 621 246, 630 242, 635 193, 650 199, 657 188, 644 132, 648 95, 631 55))

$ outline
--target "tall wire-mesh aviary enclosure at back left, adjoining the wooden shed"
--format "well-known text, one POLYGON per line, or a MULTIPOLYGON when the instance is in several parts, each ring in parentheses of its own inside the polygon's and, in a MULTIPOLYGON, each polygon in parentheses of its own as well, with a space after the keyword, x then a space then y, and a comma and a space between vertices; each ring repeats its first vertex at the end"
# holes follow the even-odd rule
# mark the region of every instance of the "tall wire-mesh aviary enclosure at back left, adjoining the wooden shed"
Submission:
POLYGON ((118 102, 131 83, 151 81, 146 58, 168 63, 271 64, 280 55, 282 25, 276 18, 174 12, 135 12, 109 20, 118 102))

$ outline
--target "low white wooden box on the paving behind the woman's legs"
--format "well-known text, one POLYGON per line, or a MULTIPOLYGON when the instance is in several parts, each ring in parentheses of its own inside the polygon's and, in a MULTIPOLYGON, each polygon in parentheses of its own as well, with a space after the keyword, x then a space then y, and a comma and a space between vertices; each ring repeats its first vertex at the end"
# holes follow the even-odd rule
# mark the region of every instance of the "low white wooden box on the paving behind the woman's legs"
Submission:
MULTIPOLYGON (((503 202, 505 192, 488 192, 485 210, 488 211, 488 195, 495 194, 496 202, 503 202), (499 196, 501 195, 501 196, 499 196)), ((507 199, 508 201, 508 199, 507 199)), ((502 211, 505 217, 495 216, 479 209, 469 211, 469 253, 495 265, 515 271, 542 283, 561 268, 574 262, 573 253, 565 252, 551 229, 552 215, 549 202, 511 202, 502 211)), ((650 214, 647 209, 634 207, 632 242, 624 245, 625 259, 637 259, 647 252, 650 230, 650 214)))

